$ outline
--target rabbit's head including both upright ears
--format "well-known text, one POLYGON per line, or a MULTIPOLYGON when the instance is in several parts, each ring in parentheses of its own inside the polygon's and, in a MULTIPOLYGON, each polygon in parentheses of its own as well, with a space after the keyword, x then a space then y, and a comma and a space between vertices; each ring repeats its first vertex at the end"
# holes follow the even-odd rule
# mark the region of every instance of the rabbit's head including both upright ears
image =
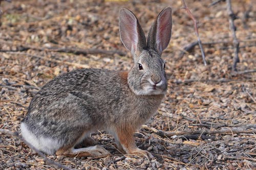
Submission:
POLYGON ((127 78, 130 88, 137 95, 165 94, 167 80, 161 54, 172 32, 172 9, 168 7, 159 13, 147 41, 138 19, 128 9, 119 12, 119 31, 122 43, 134 59, 127 78))

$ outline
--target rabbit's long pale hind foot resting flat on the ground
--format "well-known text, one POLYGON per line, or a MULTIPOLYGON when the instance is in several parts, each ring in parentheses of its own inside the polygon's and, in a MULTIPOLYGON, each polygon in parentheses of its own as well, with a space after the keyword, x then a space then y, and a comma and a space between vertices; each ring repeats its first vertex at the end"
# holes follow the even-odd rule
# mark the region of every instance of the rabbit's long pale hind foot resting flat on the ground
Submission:
POLYGON ((63 156, 69 156, 69 157, 96 157, 96 156, 105 156, 110 155, 108 151, 106 151, 104 148, 95 145, 93 147, 87 147, 87 148, 79 148, 74 149, 62 147, 57 152, 56 155, 63 155, 63 156))

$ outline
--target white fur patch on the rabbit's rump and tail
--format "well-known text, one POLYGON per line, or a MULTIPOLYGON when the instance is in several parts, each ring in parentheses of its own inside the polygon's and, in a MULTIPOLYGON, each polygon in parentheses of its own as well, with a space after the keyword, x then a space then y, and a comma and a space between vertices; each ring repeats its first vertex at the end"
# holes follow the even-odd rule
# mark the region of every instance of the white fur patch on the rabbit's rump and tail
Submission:
POLYGON ((58 140, 46 137, 36 137, 31 131, 28 130, 25 123, 20 125, 23 138, 29 142, 33 147, 46 154, 53 155, 60 147, 61 144, 58 140))

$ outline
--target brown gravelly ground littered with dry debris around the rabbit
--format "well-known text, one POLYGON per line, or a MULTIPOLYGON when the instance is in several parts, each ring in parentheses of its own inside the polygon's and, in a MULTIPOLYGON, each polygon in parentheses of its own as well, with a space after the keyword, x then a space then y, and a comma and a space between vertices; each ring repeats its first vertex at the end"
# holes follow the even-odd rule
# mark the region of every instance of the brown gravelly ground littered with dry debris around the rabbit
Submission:
MULTIPOLYGON (((161 9, 170 6, 172 40, 162 54, 168 93, 155 116, 135 133, 138 147, 154 158, 122 155, 104 131, 92 137, 110 156, 47 157, 75 169, 255 169, 256 75, 231 71, 233 39, 226 3, 209 7, 212 2, 186 0, 199 20, 207 66, 198 46, 181 55, 185 45, 197 40, 181 1, 2 2, 0 128, 19 133, 35 93, 60 74, 79 68, 129 70, 133 60, 119 38, 119 9, 132 10, 147 33, 161 9), (216 133, 204 134, 207 130, 216 133)), ((255 70, 256 5, 253 0, 233 0, 232 7, 238 15, 234 22, 240 41, 237 69, 255 70)), ((0 134, 0 157, 0 169, 59 168, 4 133, 0 134)))

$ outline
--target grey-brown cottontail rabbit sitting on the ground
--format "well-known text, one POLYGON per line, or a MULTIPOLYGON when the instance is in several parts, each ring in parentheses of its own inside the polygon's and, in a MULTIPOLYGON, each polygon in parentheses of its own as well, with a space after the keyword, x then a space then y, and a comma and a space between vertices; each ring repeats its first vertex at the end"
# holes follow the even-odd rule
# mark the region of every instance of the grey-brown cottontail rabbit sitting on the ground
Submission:
POLYGON ((105 130, 119 151, 153 157, 136 147, 133 134, 157 111, 167 90, 161 54, 171 37, 172 9, 159 13, 146 40, 136 16, 122 8, 119 31, 134 59, 130 71, 78 69, 49 81, 35 94, 20 125, 33 147, 48 155, 109 155, 90 137, 105 130), (79 143, 86 148, 76 148, 79 143))

